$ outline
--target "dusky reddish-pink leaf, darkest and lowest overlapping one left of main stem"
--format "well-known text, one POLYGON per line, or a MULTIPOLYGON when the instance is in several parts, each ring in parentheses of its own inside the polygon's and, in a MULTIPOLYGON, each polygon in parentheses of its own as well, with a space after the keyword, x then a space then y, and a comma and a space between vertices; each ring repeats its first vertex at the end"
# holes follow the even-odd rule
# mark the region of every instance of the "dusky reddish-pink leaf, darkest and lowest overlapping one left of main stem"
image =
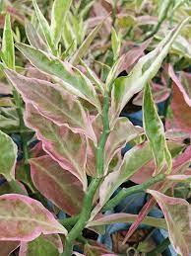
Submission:
POLYGON ((84 192, 74 175, 48 155, 33 158, 30 164, 32 182, 45 198, 70 215, 81 212, 84 192))

